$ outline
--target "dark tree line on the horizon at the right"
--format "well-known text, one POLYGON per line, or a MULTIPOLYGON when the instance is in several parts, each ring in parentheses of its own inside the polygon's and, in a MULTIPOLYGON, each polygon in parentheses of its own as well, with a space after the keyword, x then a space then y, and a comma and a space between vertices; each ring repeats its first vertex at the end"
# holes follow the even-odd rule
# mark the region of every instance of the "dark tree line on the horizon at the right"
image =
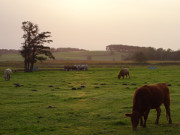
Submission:
POLYGON ((138 62, 145 62, 147 60, 160 60, 160 61, 179 61, 180 50, 173 51, 171 49, 153 47, 139 47, 129 45, 109 45, 106 50, 113 54, 113 51, 127 53, 126 60, 135 60, 138 62))

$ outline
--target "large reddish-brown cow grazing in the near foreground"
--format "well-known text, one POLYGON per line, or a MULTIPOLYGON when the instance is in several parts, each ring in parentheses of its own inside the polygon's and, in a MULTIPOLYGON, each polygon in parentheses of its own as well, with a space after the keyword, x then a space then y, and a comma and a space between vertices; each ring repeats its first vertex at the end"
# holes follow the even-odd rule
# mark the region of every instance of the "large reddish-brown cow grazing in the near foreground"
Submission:
POLYGON ((139 120, 140 125, 146 127, 146 120, 150 109, 156 109, 157 118, 155 124, 158 124, 161 113, 161 104, 164 104, 166 117, 169 120, 169 124, 171 124, 172 120, 170 115, 170 95, 168 86, 165 83, 144 85, 137 88, 134 93, 132 113, 125 115, 131 117, 132 128, 136 129, 139 120))

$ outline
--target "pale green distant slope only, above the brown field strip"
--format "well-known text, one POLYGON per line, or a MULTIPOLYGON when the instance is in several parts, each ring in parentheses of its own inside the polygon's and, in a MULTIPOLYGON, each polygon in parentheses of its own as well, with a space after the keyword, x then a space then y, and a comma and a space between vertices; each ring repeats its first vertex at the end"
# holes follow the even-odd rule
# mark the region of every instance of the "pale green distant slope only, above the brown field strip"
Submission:
MULTIPOLYGON (((91 56, 92 61, 120 61, 123 53, 114 53, 110 55, 107 51, 79 51, 79 52, 57 52, 54 53, 56 60, 87 60, 91 56)), ((4 54, 0 56, 0 61, 23 61, 19 54, 4 54)))

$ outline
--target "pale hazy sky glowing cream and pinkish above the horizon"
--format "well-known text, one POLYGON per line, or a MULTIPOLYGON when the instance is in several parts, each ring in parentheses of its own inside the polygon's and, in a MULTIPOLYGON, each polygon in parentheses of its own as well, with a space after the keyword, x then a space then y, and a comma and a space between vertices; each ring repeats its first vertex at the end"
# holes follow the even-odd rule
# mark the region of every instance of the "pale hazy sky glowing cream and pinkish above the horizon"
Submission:
POLYGON ((180 49, 180 0, 0 0, 0 48, 21 48, 23 21, 52 32, 55 48, 180 49))

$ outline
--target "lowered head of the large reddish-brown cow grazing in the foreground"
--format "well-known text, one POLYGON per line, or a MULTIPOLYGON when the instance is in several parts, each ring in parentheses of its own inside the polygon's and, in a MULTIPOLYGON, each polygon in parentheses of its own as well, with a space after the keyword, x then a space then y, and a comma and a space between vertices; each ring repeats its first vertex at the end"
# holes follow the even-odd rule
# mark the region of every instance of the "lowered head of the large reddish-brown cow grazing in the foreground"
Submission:
POLYGON ((140 113, 133 112, 131 114, 125 114, 127 117, 131 117, 131 124, 132 124, 132 129, 136 130, 137 125, 139 123, 139 119, 141 117, 140 113))

